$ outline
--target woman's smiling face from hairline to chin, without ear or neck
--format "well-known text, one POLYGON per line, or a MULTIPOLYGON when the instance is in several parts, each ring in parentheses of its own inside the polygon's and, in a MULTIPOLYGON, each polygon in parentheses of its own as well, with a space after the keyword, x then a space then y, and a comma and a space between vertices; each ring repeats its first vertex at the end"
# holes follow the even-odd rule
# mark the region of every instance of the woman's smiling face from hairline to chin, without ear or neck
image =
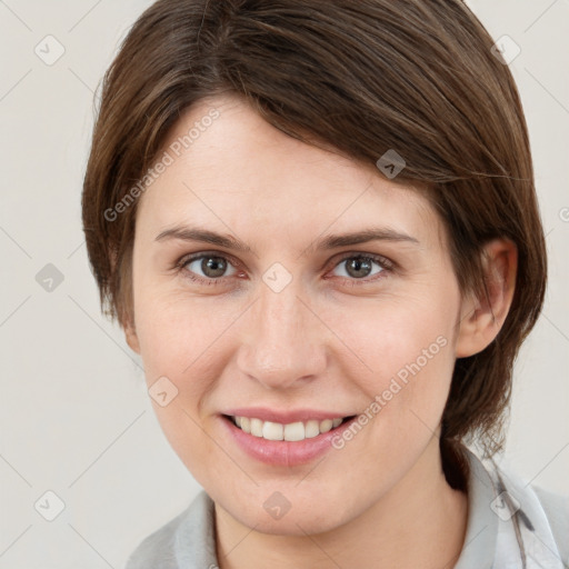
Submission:
POLYGON ((433 448, 449 392, 461 298, 440 220, 419 191, 240 99, 192 107, 164 149, 173 163, 137 212, 128 340, 166 393, 166 437, 259 531, 357 518, 433 448))

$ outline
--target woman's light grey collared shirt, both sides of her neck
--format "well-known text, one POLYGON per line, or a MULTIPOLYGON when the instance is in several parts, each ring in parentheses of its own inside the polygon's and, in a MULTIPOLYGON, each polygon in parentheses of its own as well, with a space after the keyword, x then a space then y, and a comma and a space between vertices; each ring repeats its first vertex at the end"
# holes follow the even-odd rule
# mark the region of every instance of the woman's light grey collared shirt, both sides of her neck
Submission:
MULTIPOLYGON (((525 482, 465 447, 465 542, 455 569, 567 569, 569 497, 525 482)), ((126 569, 217 569, 214 505, 206 491, 143 539, 126 569)))

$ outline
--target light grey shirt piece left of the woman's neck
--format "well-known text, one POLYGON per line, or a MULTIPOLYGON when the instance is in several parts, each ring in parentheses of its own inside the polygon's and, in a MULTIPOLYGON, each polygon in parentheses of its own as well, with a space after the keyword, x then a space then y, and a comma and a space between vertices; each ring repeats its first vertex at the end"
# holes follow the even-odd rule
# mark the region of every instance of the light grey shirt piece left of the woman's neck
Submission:
POLYGON ((192 569, 201 566, 202 560, 214 555, 212 519, 212 501, 202 490, 188 508, 137 546, 124 569, 192 569))

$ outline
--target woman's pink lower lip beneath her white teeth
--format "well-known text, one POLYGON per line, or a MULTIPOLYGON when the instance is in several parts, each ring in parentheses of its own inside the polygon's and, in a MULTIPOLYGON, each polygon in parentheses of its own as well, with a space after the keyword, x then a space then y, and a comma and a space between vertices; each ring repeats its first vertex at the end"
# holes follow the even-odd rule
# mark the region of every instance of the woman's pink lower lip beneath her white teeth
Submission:
POLYGON ((267 440, 262 437, 254 437, 233 425, 231 419, 224 416, 221 419, 237 445, 250 457, 271 466, 293 467, 306 465, 332 449, 332 439, 341 436, 341 432, 357 419, 357 416, 342 422, 336 429, 299 441, 267 440))

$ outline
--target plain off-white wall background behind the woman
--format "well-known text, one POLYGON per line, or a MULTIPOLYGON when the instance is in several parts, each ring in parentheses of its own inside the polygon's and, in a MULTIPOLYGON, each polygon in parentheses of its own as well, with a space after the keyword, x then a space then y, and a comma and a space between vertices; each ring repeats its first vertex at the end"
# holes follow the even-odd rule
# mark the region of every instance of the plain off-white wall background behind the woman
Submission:
MULTIPOLYGON (((121 568, 199 490, 162 436, 140 360, 100 316, 80 222, 93 91, 150 3, 0 0, 0 568, 121 568), (34 52, 57 54, 48 34, 64 48, 51 66, 34 52), (37 281, 48 263, 63 277, 52 291, 37 281), (64 502, 53 521, 48 490, 64 502)), ((521 48, 510 67, 550 254, 545 313, 517 365, 506 460, 569 493, 569 0, 469 4, 495 39, 521 48)))

